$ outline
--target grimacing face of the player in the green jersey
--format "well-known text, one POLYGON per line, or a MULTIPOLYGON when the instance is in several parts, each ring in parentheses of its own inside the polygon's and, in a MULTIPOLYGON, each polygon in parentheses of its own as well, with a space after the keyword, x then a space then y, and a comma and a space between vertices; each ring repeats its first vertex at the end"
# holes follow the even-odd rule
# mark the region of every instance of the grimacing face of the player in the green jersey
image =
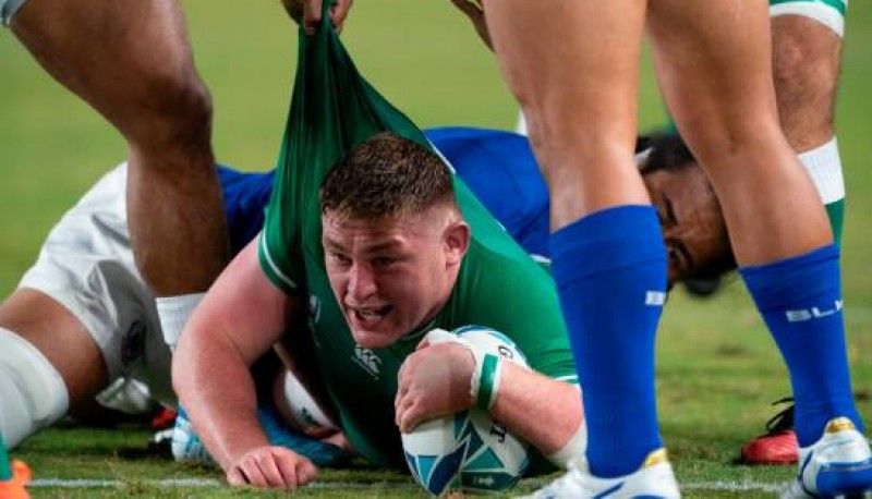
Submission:
POLYGON ((327 276, 359 345, 388 346, 448 301, 462 251, 450 241, 446 211, 388 221, 324 215, 327 276))

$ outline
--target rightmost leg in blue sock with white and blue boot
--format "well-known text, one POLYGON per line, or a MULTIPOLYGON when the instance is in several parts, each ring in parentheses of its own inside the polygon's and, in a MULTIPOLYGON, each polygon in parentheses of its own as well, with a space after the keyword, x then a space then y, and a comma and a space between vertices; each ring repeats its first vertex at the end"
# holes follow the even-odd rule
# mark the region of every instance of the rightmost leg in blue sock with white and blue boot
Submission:
POLYGON ((838 251, 777 122, 765 7, 658 0, 650 26, 670 110, 720 198, 740 272, 790 373, 803 462, 794 488, 835 497, 872 488, 872 453, 857 430, 838 251))

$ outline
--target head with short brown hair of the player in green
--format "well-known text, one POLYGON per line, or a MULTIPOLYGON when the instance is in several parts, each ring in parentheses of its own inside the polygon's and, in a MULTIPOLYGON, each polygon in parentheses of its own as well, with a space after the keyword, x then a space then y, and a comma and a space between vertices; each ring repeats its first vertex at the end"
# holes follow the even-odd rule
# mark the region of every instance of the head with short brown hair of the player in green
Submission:
POLYGON ((423 161, 438 158, 385 136, 353 151, 320 190, 330 288, 366 349, 389 346, 434 319, 470 244, 451 174, 423 161), (396 150, 386 155, 387 147, 396 150))

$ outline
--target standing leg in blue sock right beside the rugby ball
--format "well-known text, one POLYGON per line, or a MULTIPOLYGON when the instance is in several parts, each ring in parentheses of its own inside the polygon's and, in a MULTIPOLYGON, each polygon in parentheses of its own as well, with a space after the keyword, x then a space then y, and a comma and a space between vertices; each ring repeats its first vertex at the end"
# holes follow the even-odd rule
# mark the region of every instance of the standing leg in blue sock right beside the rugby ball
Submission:
MULTIPOLYGON (((484 10, 550 191, 552 268, 584 380, 583 467, 627 475, 662 455, 653 349, 666 251, 633 162, 646 3, 494 0, 484 10)), ((644 492, 671 497, 671 468, 657 462, 662 488, 644 492)))

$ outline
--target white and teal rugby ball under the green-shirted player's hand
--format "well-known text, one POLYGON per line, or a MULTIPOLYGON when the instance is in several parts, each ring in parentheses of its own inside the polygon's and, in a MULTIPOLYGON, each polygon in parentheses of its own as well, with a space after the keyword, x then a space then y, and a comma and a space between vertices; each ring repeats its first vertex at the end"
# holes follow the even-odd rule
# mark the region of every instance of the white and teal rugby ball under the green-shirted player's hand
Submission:
MULTIPOLYGON (((467 326, 452 333, 483 352, 529 367, 514 342, 494 329, 467 326)), ((529 464, 529 445, 477 409, 426 422, 401 437, 413 478, 434 496, 458 488, 505 490, 518 483, 529 464)))

